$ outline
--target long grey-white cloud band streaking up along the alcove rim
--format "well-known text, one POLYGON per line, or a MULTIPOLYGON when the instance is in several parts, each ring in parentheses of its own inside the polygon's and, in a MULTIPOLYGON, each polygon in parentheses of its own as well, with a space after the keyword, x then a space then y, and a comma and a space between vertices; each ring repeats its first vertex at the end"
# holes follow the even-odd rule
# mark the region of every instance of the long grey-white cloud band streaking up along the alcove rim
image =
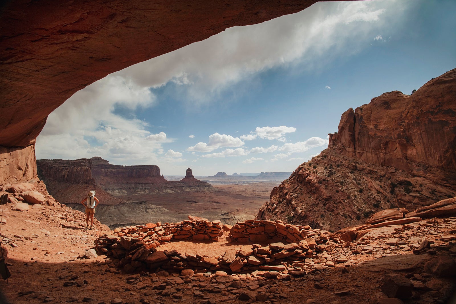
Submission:
POLYGON ((400 6, 397 1, 316 3, 261 24, 233 26, 117 73, 143 87, 176 83, 187 93, 183 99, 192 105, 209 102, 253 73, 291 62, 312 69, 327 64, 329 53, 335 58, 358 52, 385 19, 402 13, 400 6), (384 14, 389 8, 394 10, 384 14))

